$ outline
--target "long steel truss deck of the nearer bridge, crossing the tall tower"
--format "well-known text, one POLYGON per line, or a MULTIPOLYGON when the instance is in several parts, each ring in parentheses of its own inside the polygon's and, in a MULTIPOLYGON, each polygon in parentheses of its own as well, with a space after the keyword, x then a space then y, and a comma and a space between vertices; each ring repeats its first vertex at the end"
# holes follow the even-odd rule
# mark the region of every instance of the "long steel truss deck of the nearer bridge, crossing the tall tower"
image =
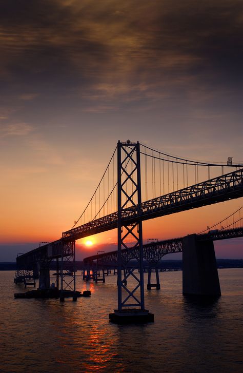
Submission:
MULTIPOLYGON (((132 204, 122 210, 122 224, 154 219, 216 202, 243 197, 243 168, 160 197, 132 204)), ((66 240, 78 240, 117 227, 118 212, 93 220, 63 233, 66 240)))

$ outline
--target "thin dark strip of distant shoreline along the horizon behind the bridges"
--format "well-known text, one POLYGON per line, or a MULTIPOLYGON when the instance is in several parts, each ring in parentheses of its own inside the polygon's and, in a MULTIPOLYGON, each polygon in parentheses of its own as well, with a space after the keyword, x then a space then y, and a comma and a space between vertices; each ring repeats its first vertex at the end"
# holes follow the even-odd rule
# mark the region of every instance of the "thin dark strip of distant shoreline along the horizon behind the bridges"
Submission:
MULTIPOLYGON (((217 268, 243 268, 243 259, 217 259, 217 268)), ((83 261, 76 261, 77 270, 83 269, 83 261)), ((182 260, 163 260, 158 268, 181 269, 182 260)), ((68 268, 65 268, 68 269, 68 268)), ((0 262, 0 271, 15 271, 16 262, 0 262)), ((55 270, 55 263, 51 263, 50 270, 55 270)))

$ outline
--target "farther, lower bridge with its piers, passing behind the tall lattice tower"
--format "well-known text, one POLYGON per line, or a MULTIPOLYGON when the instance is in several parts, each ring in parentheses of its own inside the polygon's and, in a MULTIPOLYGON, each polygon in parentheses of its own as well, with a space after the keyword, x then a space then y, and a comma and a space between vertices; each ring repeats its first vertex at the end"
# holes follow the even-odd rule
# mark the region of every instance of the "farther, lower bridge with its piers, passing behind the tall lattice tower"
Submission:
MULTIPOLYGON (((147 289, 151 289, 155 287, 156 289, 160 289, 160 281, 159 281, 159 261, 167 254, 178 253, 178 252, 185 252, 188 251, 187 240, 194 241, 194 246, 196 249, 199 249, 199 255, 201 256, 201 261, 199 266, 202 265, 211 265, 212 261, 215 261, 214 256, 214 248, 213 248, 213 241, 218 240, 226 240, 232 238, 239 238, 243 237, 243 227, 232 228, 232 229, 224 229, 224 230, 212 230, 208 233, 201 233, 201 234, 191 234, 188 237, 179 237, 170 240, 163 240, 158 242, 151 242, 148 244, 143 245, 143 259, 144 259, 144 267, 148 269, 148 283, 147 289), (208 244, 207 244, 208 243, 208 244), (212 250, 213 248, 213 250, 212 250), (211 249, 212 261, 211 263, 205 263, 205 258, 203 256, 203 250, 208 251, 211 249), (202 254, 202 255, 201 255, 202 254), (151 271, 155 270, 156 275, 156 282, 151 283, 151 271)), ((191 255, 191 253, 190 253, 191 255)), ((117 268, 117 257, 118 252, 110 251, 107 253, 101 253, 97 255, 93 255, 91 257, 87 257, 84 259, 84 263, 86 264, 86 270, 84 271, 83 279, 86 281, 93 280, 95 282, 103 281, 105 282, 105 271, 107 268, 117 268), (101 273, 101 275, 100 275, 101 273)), ((127 267, 138 268, 138 259, 139 259, 139 250, 137 247, 124 249, 122 250, 122 257, 123 262, 126 263, 127 267)), ((206 258, 208 255, 206 256, 206 258)), ((183 258, 184 259, 184 258, 183 258)), ((188 271, 188 262, 189 260, 183 260, 183 267, 185 271, 183 272, 183 292, 187 293, 188 287, 193 283, 192 279, 188 279, 188 273, 192 272, 192 269, 188 271), (185 268, 186 267, 186 268, 185 268)), ((193 261, 191 266, 198 265, 198 261, 193 261)), ((212 273, 209 271, 210 278, 212 277, 212 273)), ((214 281, 217 282, 216 291, 218 295, 220 295, 220 287, 218 282, 217 273, 215 272, 214 268, 214 281)), ((126 279, 126 270, 124 270, 124 278, 126 279)), ((193 279, 194 280, 194 279, 193 279)), ((205 279, 204 279, 205 280, 205 279)), ((213 287, 215 286, 212 283, 213 287)), ((198 289, 197 289, 198 291, 198 289)), ((215 289, 214 289, 215 291, 215 289)))

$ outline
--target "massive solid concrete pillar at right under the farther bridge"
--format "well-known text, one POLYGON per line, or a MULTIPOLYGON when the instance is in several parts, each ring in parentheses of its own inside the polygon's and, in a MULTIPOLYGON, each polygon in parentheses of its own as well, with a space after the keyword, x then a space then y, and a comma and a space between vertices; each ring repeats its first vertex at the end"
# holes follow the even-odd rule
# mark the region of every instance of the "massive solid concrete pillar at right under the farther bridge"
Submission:
POLYGON ((183 239, 183 294, 221 295, 213 241, 198 241, 196 234, 183 239))

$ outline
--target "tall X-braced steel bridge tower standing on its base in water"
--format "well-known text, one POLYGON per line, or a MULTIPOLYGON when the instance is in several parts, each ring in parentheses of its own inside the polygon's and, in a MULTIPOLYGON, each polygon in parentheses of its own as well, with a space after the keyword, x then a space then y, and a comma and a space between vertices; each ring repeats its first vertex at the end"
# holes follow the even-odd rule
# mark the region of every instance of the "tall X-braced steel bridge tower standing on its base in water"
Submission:
MULTIPOLYGON (((143 230, 140 219, 123 224, 126 208, 133 207, 141 214, 141 178, 139 143, 118 141, 117 144, 117 286, 118 309, 110 313, 110 321, 133 323, 153 321, 153 314, 145 309, 143 230), (129 265, 123 249, 138 248, 136 265, 129 265), (138 269, 138 273, 135 273, 138 269)), ((127 218, 127 217, 126 217, 127 218)), ((127 220, 127 219, 126 219, 127 220)))

